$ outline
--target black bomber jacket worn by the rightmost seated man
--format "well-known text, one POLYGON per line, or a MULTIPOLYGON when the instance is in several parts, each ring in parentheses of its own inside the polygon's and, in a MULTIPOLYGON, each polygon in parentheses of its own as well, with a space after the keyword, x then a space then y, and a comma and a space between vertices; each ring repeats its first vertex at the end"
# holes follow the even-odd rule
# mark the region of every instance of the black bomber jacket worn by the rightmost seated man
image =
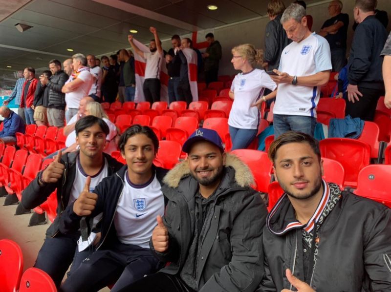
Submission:
MULTIPOLYGON (((335 184, 329 187, 341 197, 318 229, 318 253, 312 277, 308 279, 312 289, 391 291, 391 209, 341 192, 335 184)), ((288 268, 304 281, 302 231, 296 228, 284 232, 291 222, 285 216, 290 208, 285 196, 268 215, 263 229, 265 276, 260 292, 291 289, 285 276, 288 268)))

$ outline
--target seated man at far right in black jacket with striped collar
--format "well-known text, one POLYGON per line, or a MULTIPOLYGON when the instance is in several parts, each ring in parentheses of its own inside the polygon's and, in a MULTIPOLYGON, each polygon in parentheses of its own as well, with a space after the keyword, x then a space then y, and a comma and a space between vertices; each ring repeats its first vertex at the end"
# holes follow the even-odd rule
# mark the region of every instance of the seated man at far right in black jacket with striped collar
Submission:
POLYGON ((258 291, 391 291, 391 209, 324 181, 307 134, 282 134, 269 157, 285 193, 263 229, 258 291))

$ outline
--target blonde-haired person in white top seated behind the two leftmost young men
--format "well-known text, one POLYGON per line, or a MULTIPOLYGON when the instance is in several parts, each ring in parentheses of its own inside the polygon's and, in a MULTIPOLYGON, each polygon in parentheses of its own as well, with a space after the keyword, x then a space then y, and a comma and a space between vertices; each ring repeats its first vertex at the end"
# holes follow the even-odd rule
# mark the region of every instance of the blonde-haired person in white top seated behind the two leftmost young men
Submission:
POLYGON ((103 152, 110 155, 112 151, 118 150, 118 146, 117 146, 118 143, 116 143, 117 139, 115 139, 117 136, 117 133, 118 133, 117 127, 113 123, 111 123, 111 121, 109 120, 109 117, 107 116, 107 114, 103 110, 101 104, 97 103, 97 102, 88 103, 87 107, 86 107, 85 115, 86 116, 91 115, 91 116, 95 116, 97 118, 101 118, 109 126, 110 132, 109 132, 109 135, 106 136, 107 144, 106 144, 103 152))

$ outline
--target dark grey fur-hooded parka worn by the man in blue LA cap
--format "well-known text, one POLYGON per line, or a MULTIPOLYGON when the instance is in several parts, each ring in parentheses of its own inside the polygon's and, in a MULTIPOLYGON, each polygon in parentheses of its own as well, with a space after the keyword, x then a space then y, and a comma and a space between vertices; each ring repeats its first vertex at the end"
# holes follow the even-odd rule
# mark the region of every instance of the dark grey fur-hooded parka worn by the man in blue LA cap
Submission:
MULTIPOLYGON (((213 219, 201 234, 204 239, 196 266, 198 291, 252 292, 259 285, 263 275, 261 237, 267 211, 259 193, 250 188, 253 181, 249 168, 235 156, 227 155, 225 174, 211 208, 213 219)), ((164 217, 169 249, 154 252, 160 260, 171 262, 162 272, 179 274, 195 229, 191 217, 195 216, 198 183, 190 175, 187 161, 174 167, 164 182, 162 190, 169 200, 164 217)))

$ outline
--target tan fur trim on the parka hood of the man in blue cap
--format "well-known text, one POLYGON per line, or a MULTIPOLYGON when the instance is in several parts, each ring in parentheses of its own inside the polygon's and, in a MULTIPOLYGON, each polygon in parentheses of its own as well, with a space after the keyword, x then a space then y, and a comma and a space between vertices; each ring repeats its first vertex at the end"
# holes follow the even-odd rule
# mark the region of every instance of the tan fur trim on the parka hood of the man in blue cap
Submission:
MULTIPOLYGON (((225 167, 232 167, 235 170, 235 180, 240 187, 250 187, 254 184, 250 168, 235 155, 226 154, 225 167)), ((186 159, 171 169, 164 177, 163 182, 170 188, 177 188, 180 180, 189 175, 189 161, 186 159)))

